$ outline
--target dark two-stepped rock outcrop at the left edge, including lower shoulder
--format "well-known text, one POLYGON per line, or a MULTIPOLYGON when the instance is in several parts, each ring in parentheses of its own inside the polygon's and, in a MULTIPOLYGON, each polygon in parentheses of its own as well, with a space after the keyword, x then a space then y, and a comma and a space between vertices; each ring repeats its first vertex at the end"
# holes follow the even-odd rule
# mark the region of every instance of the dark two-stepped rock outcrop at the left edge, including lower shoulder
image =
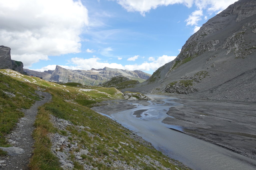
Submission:
POLYGON ((0 46, 0 69, 11 69, 24 74, 23 63, 11 59, 11 48, 0 46))

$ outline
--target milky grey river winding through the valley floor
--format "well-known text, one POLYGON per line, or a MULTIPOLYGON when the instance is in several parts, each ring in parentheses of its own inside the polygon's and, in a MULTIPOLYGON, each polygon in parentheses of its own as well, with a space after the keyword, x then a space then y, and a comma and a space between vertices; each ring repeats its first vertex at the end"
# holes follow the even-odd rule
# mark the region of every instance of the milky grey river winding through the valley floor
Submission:
POLYGON ((162 104, 148 101, 148 106, 131 103, 137 107, 111 114, 111 117, 192 169, 256 169, 253 159, 170 129, 182 131, 182 127, 162 123, 170 107, 182 105, 173 99, 165 97, 162 104))

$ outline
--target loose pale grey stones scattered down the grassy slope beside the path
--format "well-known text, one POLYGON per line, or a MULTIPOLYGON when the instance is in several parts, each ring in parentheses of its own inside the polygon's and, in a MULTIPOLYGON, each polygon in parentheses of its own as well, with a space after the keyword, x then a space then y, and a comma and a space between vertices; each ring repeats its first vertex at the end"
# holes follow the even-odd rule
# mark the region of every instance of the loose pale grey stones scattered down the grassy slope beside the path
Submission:
MULTIPOLYGON (((67 126, 74 126, 78 130, 84 130, 89 136, 95 137, 97 134, 92 134, 86 129, 90 129, 90 127, 84 127, 84 126, 75 126, 71 122, 66 121, 64 119, 58 119, 57 117, 54 117, 51 115, 51 122, 54 124, 55 127, 57 127, 60 130, 64 130, 67 132, 66 136, 60 135, 60 134, 49 134, 49 137, 52 142, 52 152, 55 153, 55 155, 59 158, 61 167, 64 169, 72 169, 74 167, 74 164, 78 163, 83 166, 83 169, 98 169, 98 167, 93 167, 92 162, 98 162, 101 164, 106 165, 107 167, 110 167, 111 169, 142 169, 138 164, 145 163, 145 164, 151 164, 153 162, 155 165, 157 165, 157 169, 170 169, 162 166, 162 164, 152 158, 150 156, 144 155, 143 158, 136 156, 136 158, 140 159, 139 163, 132 163, 132 164, 126 164, 125 161, 119 161, 118 157, 116 157, 114 152, 118 153, 120 150, 123 152, 127 152, 123 149, 122 146, 128 146, 131 145, 131 147, 134 147, 131 143, 125 143, 120 142, 118 148, 108 148, 109 150, 109 156, 105 156, 105 158, 97 158, 90 154, 90 151, 86 146, 79 147, 77 139, 72 139, 72 134, 66 130, 67 126), (72 139, 72 141, 70 140, 72 139), (71 152, 70 152, 71 151, 71 152), (70 154, 72 153, 72 154, 70 154), (74 157, 75 159, 71 161, 71 157, 74 157), (92 162, 84 161, 84 158, 90 158, 92 162), (110 159, 110 160, 109 160, 110 159), (111 162, 111 163, 109 163, 111 162)), ((145 145, 148 147, 153 147, 151 143, 143 140, 141 137, 130 134, 130 137, 133 138, 135 141, 138 141, 141 145, 145 145)), ((101 140, 104 140, 103 138, 101 140)), ((93 146, 99 145, 97 141, 95 141, 94 144, 91 144, 93 146)), ((141 155, 140 155, 141 156, 141 155)), ((181 164, 178 161, 175 160, 168 160, 171 163, 173 163, 176 166, 185 167, 183 164, 181 164)), ((187 167, 185 167, 187 168, 187 167)))

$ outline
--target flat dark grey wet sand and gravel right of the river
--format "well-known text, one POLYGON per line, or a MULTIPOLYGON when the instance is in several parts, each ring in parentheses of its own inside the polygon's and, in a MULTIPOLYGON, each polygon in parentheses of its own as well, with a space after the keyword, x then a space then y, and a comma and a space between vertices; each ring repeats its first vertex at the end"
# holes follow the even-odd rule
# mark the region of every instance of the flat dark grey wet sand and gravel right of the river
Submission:
MULTIPOLYGON (((255 103, 225 103, 177 99, 163 123, 182 126, 183 132, 256 160, 255 103)), ((255 161, 256 162, 256 161, 255 161)))

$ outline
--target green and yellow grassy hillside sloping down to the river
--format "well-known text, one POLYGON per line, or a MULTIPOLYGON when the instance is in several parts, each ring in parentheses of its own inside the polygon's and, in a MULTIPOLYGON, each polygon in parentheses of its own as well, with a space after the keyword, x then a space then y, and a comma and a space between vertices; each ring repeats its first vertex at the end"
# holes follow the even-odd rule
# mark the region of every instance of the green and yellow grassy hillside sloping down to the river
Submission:
MULTIPOLYGON (((11 132, 15 123, 23 116, 19 109, 27 109, 41 98, 34 92, 40 89, 50 93, 52 101, 38 110, 33 133, 34 154, 29 164, 31 169, 62 169, 54 150, 68 155, 67 159, 73 162, 74 169, 83 169, 85 165, 98 169, 123 169, 123 165, 114 165, 116 162, 142 169, 175 169, 171 160, 161 152, 141 141, 135 141, 130 137, 133 135, 129 130, 90 109, 102 100, 121 98, 120 91, 115 88, 68 85, 58 85, 8 69, 0 70, 0 146, 10 146, 4 136, 11 132), (10 97, 5 92, 12 93, 15 97, 10 97), (56 124, 53 119, 62 122, 56 124), (72 125, 60 128, 59 124, 65 120, 72 125), (70 144, 54 148, 56 143, 52 143, 51 134, 66 138, 70 144), (119 148, 119 151, 116 152, 115 148, 119 148), (81 155, 82 160, 76 157, 80 149, 89 151, 89 154, 81 155), (114 166, 116 167, 113 168, 114 166)), ((0 154, 3 156, 5 153, 0 151, 0 154)))

